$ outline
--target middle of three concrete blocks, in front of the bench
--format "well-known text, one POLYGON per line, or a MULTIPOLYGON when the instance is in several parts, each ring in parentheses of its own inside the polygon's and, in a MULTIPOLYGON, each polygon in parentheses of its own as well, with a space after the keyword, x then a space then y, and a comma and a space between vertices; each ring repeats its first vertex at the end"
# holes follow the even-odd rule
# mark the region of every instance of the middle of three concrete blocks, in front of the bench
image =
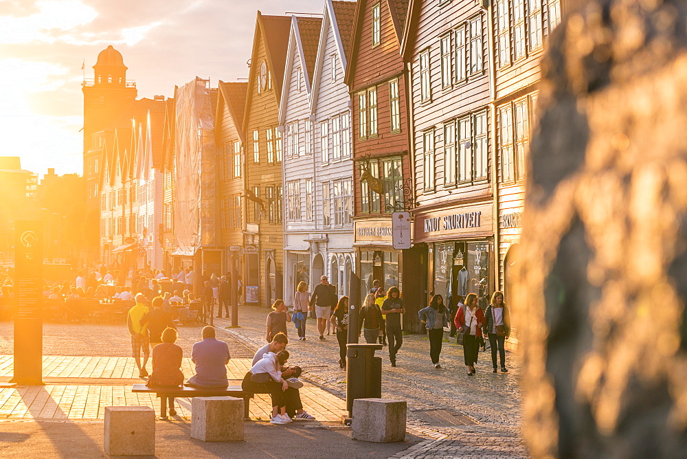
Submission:
POLYGON ((191 399, 191 438, 203 441, 243 441, 243 399, 191 399))

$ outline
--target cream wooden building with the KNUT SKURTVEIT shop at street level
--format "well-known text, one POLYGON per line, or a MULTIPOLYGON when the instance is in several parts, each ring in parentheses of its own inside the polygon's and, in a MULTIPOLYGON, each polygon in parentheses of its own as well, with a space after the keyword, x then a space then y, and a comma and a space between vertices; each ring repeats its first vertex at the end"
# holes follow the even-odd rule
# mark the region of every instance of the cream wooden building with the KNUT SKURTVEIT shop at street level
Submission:
POLYGON ((494 290, 493 126, 486 11, 473 1, 411 0, 403 58, 412 82, 413 210, 427 296, 456 306, 494 290))

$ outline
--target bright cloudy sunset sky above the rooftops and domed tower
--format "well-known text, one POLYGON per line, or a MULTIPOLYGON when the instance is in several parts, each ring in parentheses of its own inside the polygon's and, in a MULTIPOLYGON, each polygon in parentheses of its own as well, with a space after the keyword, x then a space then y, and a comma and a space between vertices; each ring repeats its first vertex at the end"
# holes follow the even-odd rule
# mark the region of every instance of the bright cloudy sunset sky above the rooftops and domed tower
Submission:
POLYGON ((194 76, 247 78, 257 9, 321 14, 324 0, 0 0, 0 156, 43 175, 82 172, 81 65, 124 56, 138 97, 194 76))

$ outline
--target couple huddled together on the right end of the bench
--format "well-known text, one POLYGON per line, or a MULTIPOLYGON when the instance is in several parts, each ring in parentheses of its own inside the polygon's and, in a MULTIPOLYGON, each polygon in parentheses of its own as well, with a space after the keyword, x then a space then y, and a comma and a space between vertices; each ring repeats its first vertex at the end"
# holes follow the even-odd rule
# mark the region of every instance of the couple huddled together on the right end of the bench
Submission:
POLYGON ((265 344, 253 358, 253 368, 246 373, 241 387, 251 394, 269 394, 272 401, 270 423, 288 424, 298 421, 314 421, 315 417, 303 410, 298 389, 303 383, 297 377, 299 367, 286 366, 289 351, 285 350, 289 339, 284 333, 277 333, 269 344, 265 344))

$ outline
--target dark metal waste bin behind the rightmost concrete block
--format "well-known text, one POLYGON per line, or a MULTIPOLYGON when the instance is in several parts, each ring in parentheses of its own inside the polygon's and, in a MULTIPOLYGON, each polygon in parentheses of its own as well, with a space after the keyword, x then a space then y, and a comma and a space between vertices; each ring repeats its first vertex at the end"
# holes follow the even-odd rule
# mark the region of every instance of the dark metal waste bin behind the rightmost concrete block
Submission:
POLYGON ((381 344, 348 344, 346 346, 346 410, 352 416, 355 399, 382 396, 382 359, 374 357, 381 344))

